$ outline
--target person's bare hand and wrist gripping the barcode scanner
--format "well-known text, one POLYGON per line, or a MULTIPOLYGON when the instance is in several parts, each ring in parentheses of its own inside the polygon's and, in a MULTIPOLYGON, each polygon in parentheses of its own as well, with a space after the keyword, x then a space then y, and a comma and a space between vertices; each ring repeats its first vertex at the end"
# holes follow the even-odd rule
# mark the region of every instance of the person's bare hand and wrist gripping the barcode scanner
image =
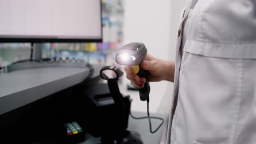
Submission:
MULTIPOLYGON (((174 62, 172 61, 163 61, 162 59, 147 54, 144 61, 141 63, 141 67, 144 70, 148 70, 149 81, 173 81, 174 62)), ((126 72, 126 77, 131 81, 132 86, 136 88, 144 87, 146 79, 133 74, 130 65, 125 65, 124 70, 126 72)))

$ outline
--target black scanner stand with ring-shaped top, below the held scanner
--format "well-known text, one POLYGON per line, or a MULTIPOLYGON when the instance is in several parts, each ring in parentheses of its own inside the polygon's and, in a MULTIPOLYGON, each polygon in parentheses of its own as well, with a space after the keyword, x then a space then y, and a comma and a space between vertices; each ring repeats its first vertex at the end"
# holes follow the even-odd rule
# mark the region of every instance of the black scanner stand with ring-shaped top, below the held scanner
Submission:
POLYGON ((114 129, 109 130, 109 133, 106 135, 102 135, 101 142, 102 144, 142 144, 143 142, 140 140, 139 134, 126 130, 128 125, 128 118, 130 114, 130 98, 129 98, 129 106, 127 106, 127 101, 125 103, 125 98, 119 91, 118 87, 118 78, 123 75, 123 72, 117 67, 107 66, 101 69, 101 77, 108 81, 108 88, 110 91, 110 95, 114 100, 114 105, 116 106, 117 114, 120 116, 119 125, 112 125, 114 129), (116 77, 109 78, 106 74, 103 73, 104 70, 113 70, 116 77), (113 131, 115 130, 115 131, 113 131))

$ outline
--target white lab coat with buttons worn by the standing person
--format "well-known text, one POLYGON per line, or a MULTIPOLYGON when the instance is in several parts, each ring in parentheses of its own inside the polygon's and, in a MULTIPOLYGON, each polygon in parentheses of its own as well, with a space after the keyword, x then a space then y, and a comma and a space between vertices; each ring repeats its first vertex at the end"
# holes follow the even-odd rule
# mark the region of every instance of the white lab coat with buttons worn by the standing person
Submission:
POLYGON ((189 0, 167 143, 256 143, 256 1, 189 0))

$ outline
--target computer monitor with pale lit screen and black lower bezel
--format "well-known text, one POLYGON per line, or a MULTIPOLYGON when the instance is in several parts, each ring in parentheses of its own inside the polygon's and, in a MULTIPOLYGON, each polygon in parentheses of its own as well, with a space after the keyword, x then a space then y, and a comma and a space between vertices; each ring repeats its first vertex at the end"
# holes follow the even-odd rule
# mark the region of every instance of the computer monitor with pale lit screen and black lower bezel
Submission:
POLYGON ((100 42, 100 0, 0 0, 0 42, 100 42))

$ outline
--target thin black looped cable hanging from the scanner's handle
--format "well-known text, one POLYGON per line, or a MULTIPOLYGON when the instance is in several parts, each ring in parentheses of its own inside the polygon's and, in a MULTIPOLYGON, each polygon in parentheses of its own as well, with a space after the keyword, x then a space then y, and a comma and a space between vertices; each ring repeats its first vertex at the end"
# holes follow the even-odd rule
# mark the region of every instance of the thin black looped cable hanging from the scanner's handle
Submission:
MULTIPOLYGON (((132 103, 132 99, 131 99, 131 103, 132 103)), ((149 101, 148 100, 147 100, 147 114, 148 114, 148 116, 145 116, 145 117, 135 117, 135 116, 132 115, 131 110, 130 110, 130 116, 133 119, 146 119, 146 118, 148 118, 150 133, 154 134, 156 131, 158 131, 160 129, 162 124, 164 124, 165 120, 161 117, 150 117, 150 115, 149 115, 149 101), (161 121, 158 128, 156 128, 154 131, 152 131, 151 119, 159 119, 161 121)))

